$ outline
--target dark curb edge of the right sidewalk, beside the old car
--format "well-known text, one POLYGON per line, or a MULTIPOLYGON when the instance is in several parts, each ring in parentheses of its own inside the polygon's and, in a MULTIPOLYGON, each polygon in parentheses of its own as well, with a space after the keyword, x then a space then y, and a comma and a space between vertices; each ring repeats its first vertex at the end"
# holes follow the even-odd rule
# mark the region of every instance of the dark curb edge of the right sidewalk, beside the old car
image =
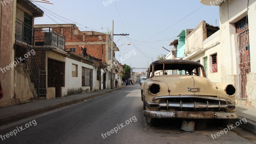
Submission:
MULTIPOLYGON (((239 116, 238 119, 230 119, 230 123, 232 124, 236 124, 236 122, 239 122, 241 119, 243 119, 244 117, 239 116)), ((246 119, 247 123, 246 124, 240 124, 239 127, 241 127, 244 130, 247 130, 249 132, 252 132, 254 134, 256 134, 256 123, 246 119)))

